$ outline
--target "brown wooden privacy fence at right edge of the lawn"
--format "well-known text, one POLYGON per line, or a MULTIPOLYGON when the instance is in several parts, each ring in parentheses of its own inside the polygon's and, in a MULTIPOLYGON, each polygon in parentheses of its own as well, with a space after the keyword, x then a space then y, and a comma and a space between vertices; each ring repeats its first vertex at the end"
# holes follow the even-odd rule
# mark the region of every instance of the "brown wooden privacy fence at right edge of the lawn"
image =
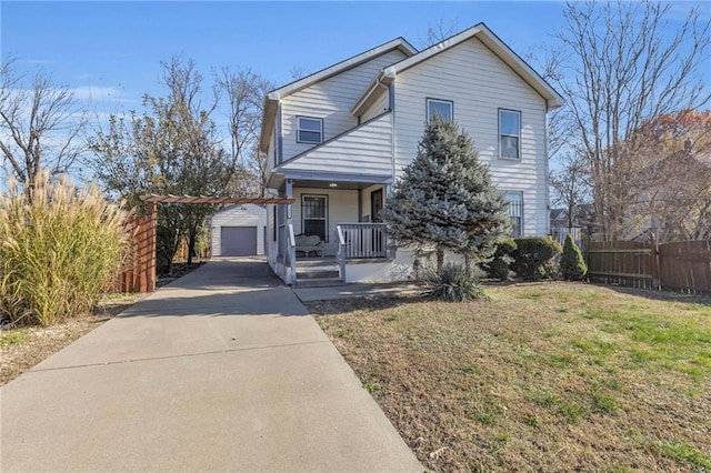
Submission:
POLYGON ((591 281, 644 289, 711 293, 711 242, 585 242, 591 281))

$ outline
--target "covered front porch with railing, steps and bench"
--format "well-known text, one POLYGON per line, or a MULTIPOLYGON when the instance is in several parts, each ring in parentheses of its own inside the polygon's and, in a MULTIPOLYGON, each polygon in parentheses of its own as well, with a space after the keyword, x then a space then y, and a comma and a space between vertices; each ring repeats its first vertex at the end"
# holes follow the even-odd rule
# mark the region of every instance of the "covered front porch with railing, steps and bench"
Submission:
POLYGON ((316 280, 346 283, 378 273, 394 258, 387 225, 380 221, 385 180, 284 179, 279 194, 293 197, 294 203, 276 205, 268 219, 274 272, 292 285, 316 280), (314 235, 322 242, 318 251, 314 235))

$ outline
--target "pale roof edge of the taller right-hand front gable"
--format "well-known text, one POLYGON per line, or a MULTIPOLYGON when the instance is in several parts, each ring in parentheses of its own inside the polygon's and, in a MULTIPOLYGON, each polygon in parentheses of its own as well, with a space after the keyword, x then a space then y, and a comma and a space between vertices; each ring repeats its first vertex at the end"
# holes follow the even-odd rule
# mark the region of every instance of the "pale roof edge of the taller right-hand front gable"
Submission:
POLYGON ((357 100, 351 109, 353 114, 359 114, 365 110, 380 93, 384 93, 378 84, 389 84, 399 72, 405 71, 422 61, 447 51, 463 41, 477 38, 492 53, 501 59, 513 72, 515 72, 525 83, 535 90, 543 99, 545 99, 548 110, 562 107, 563 98, 553 89, 538 72, 535 72, 523 59, 521 59, 511 48, 499 39, 484 23, 475 24, 461 33, 454 34, 425 50, 418 52, 402 61, 389 66, 381 70, 371 84, 365 89, 363 94, 357 100))

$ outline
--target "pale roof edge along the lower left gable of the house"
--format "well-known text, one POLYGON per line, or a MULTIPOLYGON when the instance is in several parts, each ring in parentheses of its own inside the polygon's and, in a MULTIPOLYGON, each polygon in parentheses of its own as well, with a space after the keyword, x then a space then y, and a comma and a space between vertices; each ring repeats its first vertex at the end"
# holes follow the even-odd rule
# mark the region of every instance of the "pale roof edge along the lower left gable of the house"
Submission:
POLYGON ((277 104, 279 103, 280 99, 306 89, 307 87, 313 85, 317 82, 337 76, 343 71, 356 68, 363 62, 367 62, 388 51, 392 51, 393 49, 400 50, 408 57, 413 56, 418 52, 418 50, 404 38, 395 38, 384 44, 380 44, 379 47, 361 52, 360 54, 356 54, 352 58, 346 59, 344 61, 336 63, 331 67, 322 69, 318 72, 314 72, 310 76, 296 80, 291 83, 288 83, 287 85, 280 87, 279 89, 274 89, 269 92, 264 98, 264 114, 260 133, 260 148, 262 150, 267 150, 269 148, 269 135, 268 133, 266 133, 266 131, 270 130, 274 125, 274 121, 277 119, 277 104))

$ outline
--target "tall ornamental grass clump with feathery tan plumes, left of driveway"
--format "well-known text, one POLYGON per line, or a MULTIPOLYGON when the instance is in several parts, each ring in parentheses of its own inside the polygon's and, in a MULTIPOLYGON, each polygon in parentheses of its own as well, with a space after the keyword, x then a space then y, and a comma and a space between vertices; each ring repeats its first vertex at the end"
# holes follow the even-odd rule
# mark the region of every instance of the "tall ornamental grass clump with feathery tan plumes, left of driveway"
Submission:
POLYGON ((0 194, 0 312, 51 325, 91 309, 121 266, 126 212, 96 185, 38 174, 0 194), (30 197, 31 195, 31 197, 30 197))

